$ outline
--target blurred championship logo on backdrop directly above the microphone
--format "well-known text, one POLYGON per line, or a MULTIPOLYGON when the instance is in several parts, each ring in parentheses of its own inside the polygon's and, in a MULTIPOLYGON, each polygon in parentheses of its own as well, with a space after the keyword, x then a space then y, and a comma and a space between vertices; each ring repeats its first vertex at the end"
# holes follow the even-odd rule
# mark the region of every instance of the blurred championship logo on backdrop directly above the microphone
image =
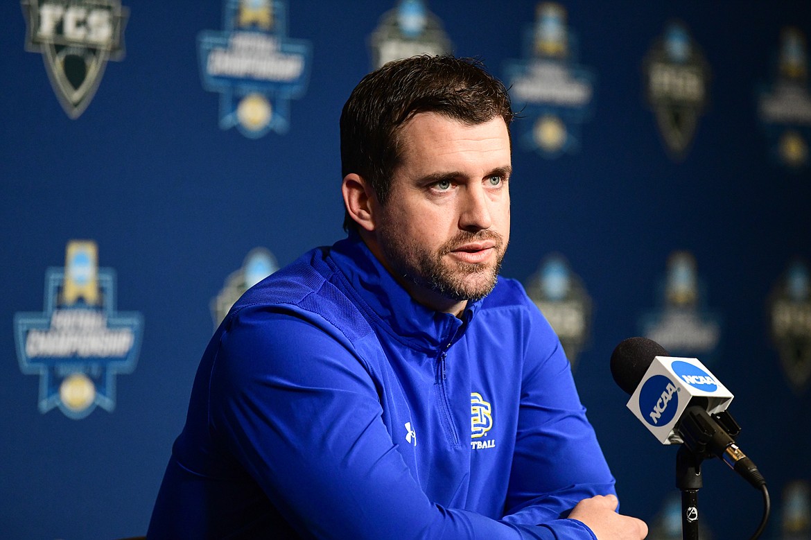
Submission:
POLYGON ((674 356, 712 362, 721 339, 719 315, 704 308, 696 260, 688 251, 675 251, 667 260, 667 276, 659 296, 662 306, 642 315, 645 336, 674 356))

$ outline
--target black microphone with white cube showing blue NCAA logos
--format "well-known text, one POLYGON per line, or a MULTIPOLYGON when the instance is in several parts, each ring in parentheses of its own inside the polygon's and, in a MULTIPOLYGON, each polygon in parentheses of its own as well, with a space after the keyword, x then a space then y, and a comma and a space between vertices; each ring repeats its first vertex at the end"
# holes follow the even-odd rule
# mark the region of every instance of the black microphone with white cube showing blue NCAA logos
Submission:
POLYGON ((660 443, 717 456, 756 488, 766 483, 733 439, 740 427, 727 413, 732 392, 697 358, 672 357, 655 341, 629 337, 611 353, 611 375, 660 443))

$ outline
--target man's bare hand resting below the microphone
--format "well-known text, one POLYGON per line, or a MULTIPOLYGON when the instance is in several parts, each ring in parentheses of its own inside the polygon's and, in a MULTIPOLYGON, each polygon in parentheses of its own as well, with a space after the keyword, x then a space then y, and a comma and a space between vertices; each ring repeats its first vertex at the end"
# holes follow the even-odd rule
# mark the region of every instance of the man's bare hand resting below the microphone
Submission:
POLYGON ((599 540, 642 540, 648 535, 645 521, 616 513, 620 501, 614 495, 583 499, 569 517, 588 525, 599 540))

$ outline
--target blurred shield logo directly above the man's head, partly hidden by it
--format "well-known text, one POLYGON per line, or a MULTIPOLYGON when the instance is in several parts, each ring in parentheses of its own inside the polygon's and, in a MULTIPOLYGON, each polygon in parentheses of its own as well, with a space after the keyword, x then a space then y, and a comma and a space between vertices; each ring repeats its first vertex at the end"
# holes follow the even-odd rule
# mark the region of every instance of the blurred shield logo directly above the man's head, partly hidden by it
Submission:
POLYGON ((442 21, 428 11, 423 0, 400 0, 396 7, 386 11, 369 36, 369 45, 373 69, 400 58, 451 52, 442 21))

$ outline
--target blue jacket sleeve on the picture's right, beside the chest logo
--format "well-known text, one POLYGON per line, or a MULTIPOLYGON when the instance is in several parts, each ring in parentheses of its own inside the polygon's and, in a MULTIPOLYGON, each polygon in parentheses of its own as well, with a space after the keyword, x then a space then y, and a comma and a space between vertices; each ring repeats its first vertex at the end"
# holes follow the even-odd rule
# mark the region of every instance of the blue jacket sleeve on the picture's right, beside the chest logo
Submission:
POLYGON ((504 516, 514 524, 560 520, 582 499, 616 495, 569 361, 546 319, 532 307, 504 516))

